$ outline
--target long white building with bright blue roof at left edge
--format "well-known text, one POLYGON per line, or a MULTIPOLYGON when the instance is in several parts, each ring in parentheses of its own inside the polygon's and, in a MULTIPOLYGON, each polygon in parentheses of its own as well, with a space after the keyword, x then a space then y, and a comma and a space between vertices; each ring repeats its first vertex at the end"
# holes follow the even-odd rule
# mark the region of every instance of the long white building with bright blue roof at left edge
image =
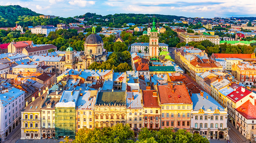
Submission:
POLYGON ((25 106, 25 91, 14 87, 1 91, 0 94, 0 138, 2 141, 20 124, 20 111, 25 106))

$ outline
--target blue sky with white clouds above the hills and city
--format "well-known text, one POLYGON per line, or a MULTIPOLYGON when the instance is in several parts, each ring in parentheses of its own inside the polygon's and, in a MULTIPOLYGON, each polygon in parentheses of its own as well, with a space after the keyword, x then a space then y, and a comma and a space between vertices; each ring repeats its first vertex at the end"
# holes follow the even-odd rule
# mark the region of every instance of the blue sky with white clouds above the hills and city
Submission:
POLYGON ((255 0, 0 0, 44 15, 74 17, 87 12, 101 15, 135 13, 185 17, 256 17, 255 0))

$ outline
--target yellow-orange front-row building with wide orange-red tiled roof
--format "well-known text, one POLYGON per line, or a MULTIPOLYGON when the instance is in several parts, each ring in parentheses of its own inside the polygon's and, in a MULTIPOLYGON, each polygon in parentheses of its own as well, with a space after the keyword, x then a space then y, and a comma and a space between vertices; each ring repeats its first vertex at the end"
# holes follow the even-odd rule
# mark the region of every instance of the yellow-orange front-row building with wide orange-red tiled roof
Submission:
POLYGON ((161 106, 161 128, 179 128, 190 131, 193 102, 186 85, 158 85, 161 106))

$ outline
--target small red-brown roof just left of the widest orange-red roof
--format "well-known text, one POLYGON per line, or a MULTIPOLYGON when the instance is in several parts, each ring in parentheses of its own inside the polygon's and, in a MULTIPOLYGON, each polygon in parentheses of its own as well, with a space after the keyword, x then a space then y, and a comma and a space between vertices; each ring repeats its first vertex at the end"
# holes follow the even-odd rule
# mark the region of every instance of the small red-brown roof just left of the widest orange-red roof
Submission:
POLYGON ((153 91, 157 90, 142 90, 144 107, 160 107, 157 96, 153 97, 153 91))

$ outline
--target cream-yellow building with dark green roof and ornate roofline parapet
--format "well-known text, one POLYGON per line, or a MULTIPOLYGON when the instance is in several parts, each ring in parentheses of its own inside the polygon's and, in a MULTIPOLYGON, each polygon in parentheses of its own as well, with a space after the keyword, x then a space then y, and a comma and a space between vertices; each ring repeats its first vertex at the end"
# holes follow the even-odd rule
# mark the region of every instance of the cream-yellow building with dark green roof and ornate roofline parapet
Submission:
POLYGON ((126 123, 125 92, 103 91, 99 92, 94 107, 94 127, 112 127, 118 123, 126 123))

